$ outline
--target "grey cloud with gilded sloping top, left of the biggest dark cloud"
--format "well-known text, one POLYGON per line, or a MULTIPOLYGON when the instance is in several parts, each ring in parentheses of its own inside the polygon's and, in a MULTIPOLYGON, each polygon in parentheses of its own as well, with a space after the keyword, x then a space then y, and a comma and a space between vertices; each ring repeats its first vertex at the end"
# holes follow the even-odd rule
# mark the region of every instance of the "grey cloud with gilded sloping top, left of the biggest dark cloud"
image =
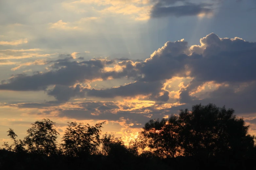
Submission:
POLYGON ((135 78, 138 81, 154 82, 170 79, 173 76, 183 76, 185 74, 184 65, 188 58, 185 54, 188 50, 187 45, 186 41, 168 41, 144 62, 133 63, 130 60, 120 62, 118 64, 125 68, 117 74, 117 77, 122 75, 135 78))

